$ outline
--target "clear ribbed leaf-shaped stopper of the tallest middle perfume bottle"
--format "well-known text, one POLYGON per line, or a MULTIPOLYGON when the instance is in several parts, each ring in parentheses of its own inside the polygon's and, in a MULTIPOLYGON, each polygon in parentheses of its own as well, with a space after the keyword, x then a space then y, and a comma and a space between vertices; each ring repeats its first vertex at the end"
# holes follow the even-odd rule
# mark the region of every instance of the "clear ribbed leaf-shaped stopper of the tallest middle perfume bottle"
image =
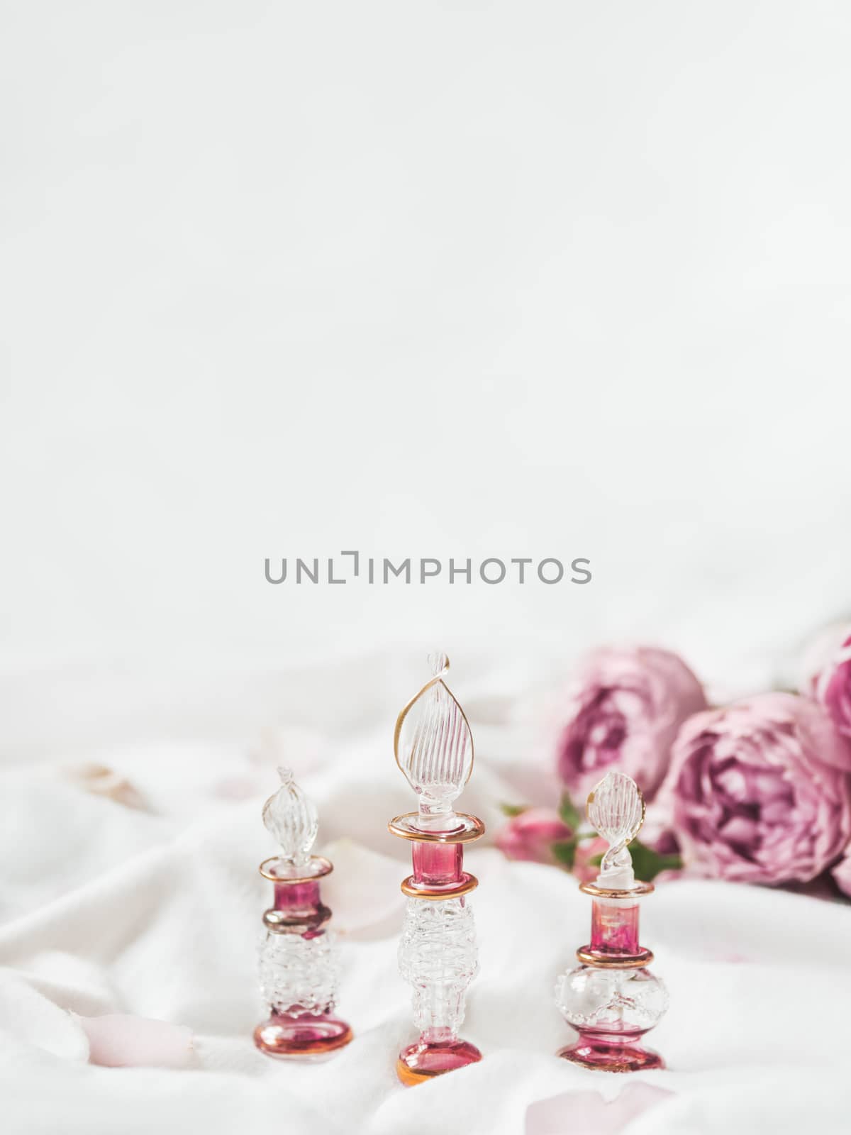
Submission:
POLYGON ((453 801, 473 771, 473 734, 444 682, 449 659, 437 651, 428 661, 432 676, 399 714, 394 749, 419 797, 421 826, 448 831, 456 822, 453 801))

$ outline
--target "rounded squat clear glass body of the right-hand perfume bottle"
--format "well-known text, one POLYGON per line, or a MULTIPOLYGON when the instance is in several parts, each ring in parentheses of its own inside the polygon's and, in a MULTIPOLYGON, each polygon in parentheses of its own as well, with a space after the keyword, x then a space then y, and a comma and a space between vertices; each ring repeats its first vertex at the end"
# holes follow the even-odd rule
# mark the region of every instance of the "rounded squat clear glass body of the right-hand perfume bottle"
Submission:
POLYGON ((556 1004, 582 1034, 638 1039, 662 1020, 668 993, 649 969, 576 966, 556 982, 556 1004))

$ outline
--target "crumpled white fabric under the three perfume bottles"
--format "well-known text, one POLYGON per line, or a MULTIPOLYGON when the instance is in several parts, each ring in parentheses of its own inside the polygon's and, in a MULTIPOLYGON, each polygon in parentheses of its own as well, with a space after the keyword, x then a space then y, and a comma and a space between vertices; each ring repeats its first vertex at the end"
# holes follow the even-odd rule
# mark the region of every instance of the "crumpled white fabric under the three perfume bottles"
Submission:
MULTIPOLYGON (((463 806, 492 834, 500 800, 549 791, 547 765, 496 703, 466 707, 478 758, 463 806)), ((254 747, 101 739, 79 763, 132 785, 117 798, 75 774, 76 756, 0 774, 5 1132, 848 1130, 851 908, 710 881, 660 885, 642 940, 671 992, 649 1039, 668 1070, 589 1073, 554 1056, 571 1034, 553 1004, 557 973, 587 941, 589 902, 568 875, 508 863, 487 840, 467 851, 481 968, 463 1029, 485 1059, 403 1088, 394 1062, 414 1029, 396 945, 408 849, 386 825, 412 800, 393 716, 373 708, 361 728, 301 725, 254 747), (271 897, 256 867, 273 850, 260 809, 281 758, 319 806, 320 849, 335 861, 323 893, 343 955, 339 1011, 355 1033, 309 1065, 252 1043, 271 897)))

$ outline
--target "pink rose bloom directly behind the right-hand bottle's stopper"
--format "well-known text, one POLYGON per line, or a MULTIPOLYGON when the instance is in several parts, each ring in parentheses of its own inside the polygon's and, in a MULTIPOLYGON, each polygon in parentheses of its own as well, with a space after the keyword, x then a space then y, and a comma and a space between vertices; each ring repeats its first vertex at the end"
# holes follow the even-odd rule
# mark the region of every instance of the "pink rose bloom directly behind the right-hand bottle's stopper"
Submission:
POLYGON ((680 725, 706 707, 700 682, 675 654, 650 647, 596 650, 568 690, 558 773, 583 800, 616 767, 651 800, 680 725))

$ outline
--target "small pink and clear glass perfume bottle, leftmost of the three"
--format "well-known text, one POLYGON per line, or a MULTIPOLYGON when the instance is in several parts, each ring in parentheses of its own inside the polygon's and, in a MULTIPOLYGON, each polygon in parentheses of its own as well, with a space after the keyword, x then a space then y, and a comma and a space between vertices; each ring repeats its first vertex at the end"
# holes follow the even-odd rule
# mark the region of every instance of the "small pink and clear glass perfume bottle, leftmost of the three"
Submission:
POLYGON ((331 911, 323 906, 319 881, 334 869, 311 855, 319 822, 317 809, 279 768, 280 788, 263 805, 263 823, 280 844, 260 874, 275 884, 273 906, 263 915, 260 990, 269 1019, 254 1029, 254 1043, 271 1057, 318 1058, 343 1048, 352 1029, 334 1016, 339 960, 331 911))

